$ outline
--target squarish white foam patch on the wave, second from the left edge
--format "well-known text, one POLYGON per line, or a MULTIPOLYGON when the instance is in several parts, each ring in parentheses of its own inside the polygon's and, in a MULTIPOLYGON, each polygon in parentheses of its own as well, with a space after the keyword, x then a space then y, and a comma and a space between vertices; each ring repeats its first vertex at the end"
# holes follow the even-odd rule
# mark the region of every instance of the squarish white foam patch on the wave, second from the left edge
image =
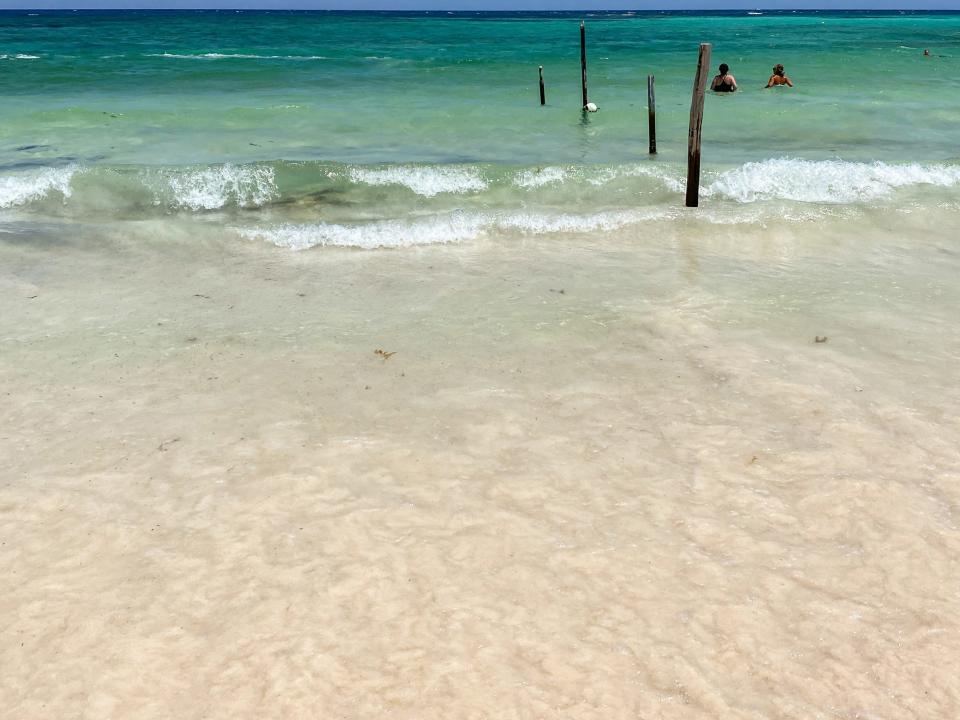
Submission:
POLYGON ((190 210, 216 210, 230 204, 257 207, 279 195, 274 170, 266 165, 163 170, 159 176, 166 187, 157 190, 158 205, 190 210))

